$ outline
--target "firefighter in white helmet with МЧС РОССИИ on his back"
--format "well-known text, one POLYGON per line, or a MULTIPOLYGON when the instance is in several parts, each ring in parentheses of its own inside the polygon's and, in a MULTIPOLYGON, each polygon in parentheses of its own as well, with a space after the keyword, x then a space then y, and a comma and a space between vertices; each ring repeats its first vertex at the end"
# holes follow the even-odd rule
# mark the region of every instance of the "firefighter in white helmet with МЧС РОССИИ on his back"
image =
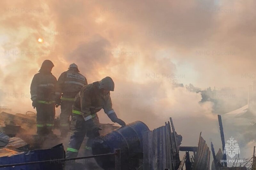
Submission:
POLYGON ((86 78, 79 73, 75 63, 70 64, 68 71, 62 73, 57 81, 56 107, 60 106, 60 131, 66 137, 69 131, 69 118, 72 114, 72 105, 76 94, 87 85, 86 78), (60 98, 61 97, 61 98, 60 98))

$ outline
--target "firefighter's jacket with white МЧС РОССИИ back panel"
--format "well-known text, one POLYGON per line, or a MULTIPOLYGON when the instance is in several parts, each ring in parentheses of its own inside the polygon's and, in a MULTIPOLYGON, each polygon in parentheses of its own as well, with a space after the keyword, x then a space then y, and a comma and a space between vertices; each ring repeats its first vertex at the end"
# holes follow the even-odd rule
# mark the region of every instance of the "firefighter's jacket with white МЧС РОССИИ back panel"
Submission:
POLYGON ((82 74, 74 70, 65 71, 58 79, 56 97, 62 96, 61 100, 73 102, 84 85, 87 85, 87 80, 82 74))

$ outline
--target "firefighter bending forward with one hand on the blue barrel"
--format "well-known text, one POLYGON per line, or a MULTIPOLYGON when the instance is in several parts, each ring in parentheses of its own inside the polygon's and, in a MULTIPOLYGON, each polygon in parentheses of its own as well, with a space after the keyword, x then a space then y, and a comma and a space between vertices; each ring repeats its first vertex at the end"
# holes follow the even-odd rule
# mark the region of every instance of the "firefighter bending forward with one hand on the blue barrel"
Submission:
POLYGON ((72 131, 66 153, 67 158, 77 156, 85 135, 89 138, 86 149, 91 150, 93 139, 100 136, 97 112, 102 108, 112 122, 125 126, 125 122, 117 118, 112 109, 109 91, 114 91, 114 86, 114 81, 110 77, 105 77, 101 81, 84 86, 76 95, 72 107, 73 117, 70 124, 72 131))

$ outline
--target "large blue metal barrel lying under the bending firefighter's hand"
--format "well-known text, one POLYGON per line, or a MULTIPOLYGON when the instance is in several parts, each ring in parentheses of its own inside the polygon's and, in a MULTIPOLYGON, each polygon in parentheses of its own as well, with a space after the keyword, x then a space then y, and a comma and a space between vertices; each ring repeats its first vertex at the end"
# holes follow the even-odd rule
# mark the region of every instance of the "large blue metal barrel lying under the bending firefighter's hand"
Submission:
MULTIPOLYGON (((92 153, 114 153, 115 149, 121 149, 121 165, 127 167, 132 158, 143 152, 142 134, 145 131, 149 131, 148 126, 140 121, 117 128, 96 138, 92 153)), ((115 157, 96 158, 96 161, 103 169, 115 167, 115 157)))

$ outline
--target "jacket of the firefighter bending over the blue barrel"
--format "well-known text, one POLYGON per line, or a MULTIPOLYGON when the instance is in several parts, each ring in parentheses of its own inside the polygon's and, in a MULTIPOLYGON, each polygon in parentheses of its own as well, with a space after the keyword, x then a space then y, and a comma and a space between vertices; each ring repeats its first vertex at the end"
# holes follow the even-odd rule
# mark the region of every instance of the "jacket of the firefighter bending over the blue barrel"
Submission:
POLYGON ((99 89, 99 81, 84 86, 75 97, 73 114, 82 115, 87 121, 95 117, 95 113, 102 108, 107 115, 115 113, 112 109, 110 93, 102 95, 99 89))

